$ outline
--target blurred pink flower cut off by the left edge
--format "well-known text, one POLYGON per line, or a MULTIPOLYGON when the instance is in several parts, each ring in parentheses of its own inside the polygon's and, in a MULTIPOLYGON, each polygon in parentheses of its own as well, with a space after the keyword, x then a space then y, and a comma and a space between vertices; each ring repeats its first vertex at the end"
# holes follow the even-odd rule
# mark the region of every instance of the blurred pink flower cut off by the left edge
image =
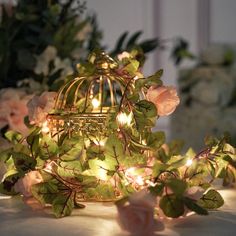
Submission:
POLYGON ((6 125, 17 132, 26 135, 28 128, 24 118, 28 115, 27 102, 30 99, 22 90, 5 89, 0 95, 0 129, 6 125))

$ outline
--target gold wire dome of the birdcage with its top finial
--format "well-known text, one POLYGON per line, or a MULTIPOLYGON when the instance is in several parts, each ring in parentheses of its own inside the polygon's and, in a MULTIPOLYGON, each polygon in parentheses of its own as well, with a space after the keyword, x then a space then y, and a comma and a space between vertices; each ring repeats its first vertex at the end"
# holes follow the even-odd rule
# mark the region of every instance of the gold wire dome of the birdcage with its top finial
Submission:
POLYGON ((92 73, 76 77, 61 87, 55 102, 56 112, 107 113, 119 105, 127 81, 115 72, 118 64, 104 52, 92 54, 90 63, 92 73))

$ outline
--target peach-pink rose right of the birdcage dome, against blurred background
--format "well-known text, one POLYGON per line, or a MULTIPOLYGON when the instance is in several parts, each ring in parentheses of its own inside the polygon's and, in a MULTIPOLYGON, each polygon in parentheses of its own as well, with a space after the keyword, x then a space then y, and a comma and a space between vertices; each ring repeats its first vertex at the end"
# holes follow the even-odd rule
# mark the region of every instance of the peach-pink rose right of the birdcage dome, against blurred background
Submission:
POLYGON ((154 103, 159 116, 170 115, 180 100, 174 87, 150 87, 146 94, 147 100, 154 103))

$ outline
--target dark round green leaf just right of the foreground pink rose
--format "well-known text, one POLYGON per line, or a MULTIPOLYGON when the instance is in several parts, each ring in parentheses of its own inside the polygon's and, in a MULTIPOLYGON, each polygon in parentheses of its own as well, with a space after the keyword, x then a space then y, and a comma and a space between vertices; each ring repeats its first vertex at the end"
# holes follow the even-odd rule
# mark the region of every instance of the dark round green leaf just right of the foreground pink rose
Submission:
POLYGON ((166 216, 178 218, 184 214, 184 201, 174 194, 165 195, 160 200, 160 208, 166 216))

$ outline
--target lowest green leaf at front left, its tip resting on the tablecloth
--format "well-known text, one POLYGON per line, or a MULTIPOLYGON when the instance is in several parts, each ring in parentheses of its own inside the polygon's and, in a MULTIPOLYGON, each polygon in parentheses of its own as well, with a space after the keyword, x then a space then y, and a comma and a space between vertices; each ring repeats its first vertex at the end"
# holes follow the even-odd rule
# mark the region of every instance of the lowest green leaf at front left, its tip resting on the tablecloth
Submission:
POLYGON ((53 200, 52 209, 57 218, 69 216, 74 208, 73 193, 58 195, 53 200))

